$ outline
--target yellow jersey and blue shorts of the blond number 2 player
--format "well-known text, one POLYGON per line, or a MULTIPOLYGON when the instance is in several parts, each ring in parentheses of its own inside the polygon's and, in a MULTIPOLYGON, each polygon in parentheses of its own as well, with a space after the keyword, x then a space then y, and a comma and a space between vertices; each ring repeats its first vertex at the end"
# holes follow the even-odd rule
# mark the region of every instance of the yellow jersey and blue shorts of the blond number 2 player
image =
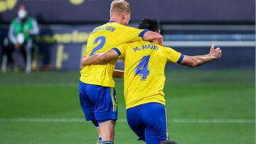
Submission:
MULTIPOLYGON (((95 28, 87 40, 85 57, 100 52, 107 52, 117 45, 142 41, 144 33, 129 26, 123 26, 114 21, 95 28)), ((117 119, 117 98, 114 92, 112 73, 116 61, 106 65, 90 65, 80 70, 80 104, 87 121, 97 122, 117 119)))

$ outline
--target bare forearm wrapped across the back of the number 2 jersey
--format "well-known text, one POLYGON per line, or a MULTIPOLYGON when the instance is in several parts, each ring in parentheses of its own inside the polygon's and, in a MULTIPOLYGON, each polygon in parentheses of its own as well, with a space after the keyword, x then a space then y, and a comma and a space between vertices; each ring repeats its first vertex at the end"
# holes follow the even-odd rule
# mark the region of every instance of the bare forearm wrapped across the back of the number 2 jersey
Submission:
POLYGON ((81 60, 80 67, 85 67, 85 65, 100 65, 100 64, 106 64, 110 60, 117 60, 118 59, 118 53, 115 50, 109 50, 104 53, 98 53, 95 55, 92 55, 90 57, 83 57, 81 60))

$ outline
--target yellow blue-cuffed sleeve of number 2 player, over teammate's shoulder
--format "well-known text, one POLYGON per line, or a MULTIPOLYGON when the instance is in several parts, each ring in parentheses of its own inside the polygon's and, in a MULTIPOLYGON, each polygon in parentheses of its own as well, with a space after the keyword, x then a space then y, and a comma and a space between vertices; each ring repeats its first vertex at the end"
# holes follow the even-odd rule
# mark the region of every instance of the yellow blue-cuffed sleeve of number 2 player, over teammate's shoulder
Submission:
POLYGON ((125 26, 122 30, 122 33, 124 33, 123 36, 124 40, 126 41, 125 43, 130 43, 134 41, 142 41, 142 37, 147 31, 149 30, 125 26))

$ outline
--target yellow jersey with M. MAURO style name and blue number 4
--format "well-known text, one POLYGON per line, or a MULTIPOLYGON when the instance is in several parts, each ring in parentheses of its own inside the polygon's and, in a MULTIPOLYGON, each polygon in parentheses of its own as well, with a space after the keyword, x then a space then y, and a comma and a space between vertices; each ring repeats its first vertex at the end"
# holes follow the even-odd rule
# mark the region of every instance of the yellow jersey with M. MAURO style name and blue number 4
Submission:
POLYGON ((113 48, 124 59, 124 100, 126 109, 149 102, 165 104, 166 62, 180 63, 183 55, 151 42, 125 43, 113 48))

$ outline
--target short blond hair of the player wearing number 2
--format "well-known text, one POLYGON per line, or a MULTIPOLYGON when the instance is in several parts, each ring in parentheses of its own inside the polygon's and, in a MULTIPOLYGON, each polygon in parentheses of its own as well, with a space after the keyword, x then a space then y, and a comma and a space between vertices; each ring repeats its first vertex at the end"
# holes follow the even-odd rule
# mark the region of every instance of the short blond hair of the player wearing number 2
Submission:
POLYGON ((113 14, 121 14, 124 12, 131 12, 129 3, 127 1, 124 0, 114 0, 111 3, 111 7, 110 7, 110 16, 112 16, 113 14))

